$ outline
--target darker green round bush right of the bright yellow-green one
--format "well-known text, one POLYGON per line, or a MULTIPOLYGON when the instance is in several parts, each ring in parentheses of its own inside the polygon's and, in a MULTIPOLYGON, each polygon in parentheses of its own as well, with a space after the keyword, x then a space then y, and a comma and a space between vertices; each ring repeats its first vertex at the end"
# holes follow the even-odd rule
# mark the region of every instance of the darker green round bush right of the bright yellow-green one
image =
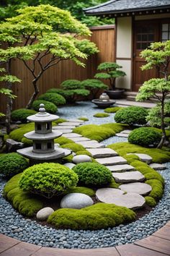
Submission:
POLYGON ((112 172, 99 163, 78 163, 73 171, 79 177, 79 183, 87 186, 102 186, 112 181, 112 172))

